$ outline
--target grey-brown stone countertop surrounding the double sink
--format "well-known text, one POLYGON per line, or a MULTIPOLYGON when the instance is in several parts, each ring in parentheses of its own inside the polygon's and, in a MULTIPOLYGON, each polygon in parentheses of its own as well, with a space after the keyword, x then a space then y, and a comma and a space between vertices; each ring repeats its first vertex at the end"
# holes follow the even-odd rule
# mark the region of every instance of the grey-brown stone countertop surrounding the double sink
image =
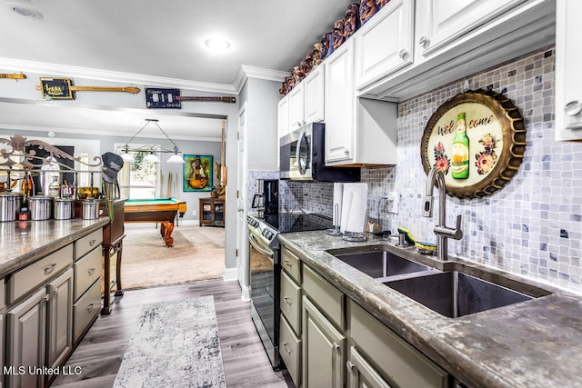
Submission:
POLYGON ((473 387, 582 387, 582 297, 547 284, 522 279, 479 264, 437 263, 436 257, 398 248, 378 238, 350 243, 325 232, 280 234, 279 240, 348 297, 425 353, 435 363, 473 387), (407 298, 326 250, 386 244, 389 251, 433 264, 487 269, 506 282, 531 284, 551 294, 525 303, 447 318, 407 298), (479 268, 480 267, 480 268, 479 268))

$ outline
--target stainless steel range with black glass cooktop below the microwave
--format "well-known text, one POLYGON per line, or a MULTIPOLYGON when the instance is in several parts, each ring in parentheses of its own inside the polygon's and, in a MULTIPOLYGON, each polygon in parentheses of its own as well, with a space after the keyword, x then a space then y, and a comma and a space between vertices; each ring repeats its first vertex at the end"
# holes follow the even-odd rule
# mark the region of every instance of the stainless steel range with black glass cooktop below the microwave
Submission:
POLYGON ((279 259, 280 233, 325 230, 330 218, 318 214, 280 213, 247 216, 251 287, 251 316, 275 370, 284 365, 279 357, 279 259))

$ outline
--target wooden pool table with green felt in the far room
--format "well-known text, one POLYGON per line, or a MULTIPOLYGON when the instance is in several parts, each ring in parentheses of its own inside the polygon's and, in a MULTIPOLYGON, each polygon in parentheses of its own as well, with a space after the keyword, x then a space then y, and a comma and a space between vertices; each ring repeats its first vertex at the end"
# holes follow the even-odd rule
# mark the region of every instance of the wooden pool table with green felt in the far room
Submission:
POLYGON ((125 223, 159 223, 166 246, 174 246, 174 220, 186 214, 186 201, 176 198, 128 199, 125 201, 125 223))

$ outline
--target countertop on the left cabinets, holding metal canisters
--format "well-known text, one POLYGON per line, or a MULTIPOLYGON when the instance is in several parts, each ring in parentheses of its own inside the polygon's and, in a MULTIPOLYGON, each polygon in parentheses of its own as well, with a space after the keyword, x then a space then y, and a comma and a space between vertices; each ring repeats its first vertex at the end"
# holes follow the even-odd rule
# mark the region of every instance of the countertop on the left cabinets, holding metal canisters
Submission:
POLYGON ((34 263, 108 223, 109 217, 0 223, 0 277, 34 263))

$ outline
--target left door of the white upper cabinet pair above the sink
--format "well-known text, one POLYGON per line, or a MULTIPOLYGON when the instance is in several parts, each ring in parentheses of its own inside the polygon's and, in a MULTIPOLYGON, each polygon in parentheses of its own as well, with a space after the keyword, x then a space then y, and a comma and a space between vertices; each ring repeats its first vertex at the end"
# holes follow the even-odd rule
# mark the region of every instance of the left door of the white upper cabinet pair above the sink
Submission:
POLYGON ((410 65, 414 2, 392 0, 356 34, 356 88, 410 65))

